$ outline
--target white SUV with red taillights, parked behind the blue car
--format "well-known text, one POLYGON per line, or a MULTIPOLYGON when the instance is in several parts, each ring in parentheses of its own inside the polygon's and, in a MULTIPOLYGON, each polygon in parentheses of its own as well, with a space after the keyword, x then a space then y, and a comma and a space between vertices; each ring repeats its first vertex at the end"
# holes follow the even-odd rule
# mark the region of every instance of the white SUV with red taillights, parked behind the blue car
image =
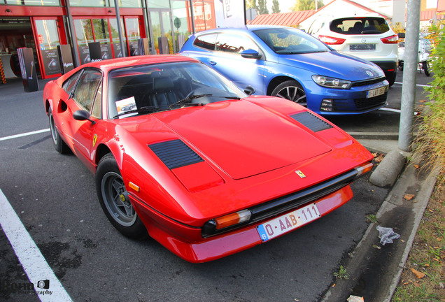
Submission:
POLYGON ((398 36, 383 17, 318 18, 308 33, 339 52, 377 64, 390 85, 394 84, 398 36))

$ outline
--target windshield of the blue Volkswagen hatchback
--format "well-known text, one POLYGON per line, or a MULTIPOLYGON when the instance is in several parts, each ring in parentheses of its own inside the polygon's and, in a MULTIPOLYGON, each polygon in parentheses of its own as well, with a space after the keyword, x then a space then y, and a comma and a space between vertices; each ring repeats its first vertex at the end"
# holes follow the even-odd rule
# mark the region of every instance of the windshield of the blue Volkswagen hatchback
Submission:
POLYGON ((271 50, 280 55, 330 51, 313 36, 292 28, 271 28, 253 31, 271 50))

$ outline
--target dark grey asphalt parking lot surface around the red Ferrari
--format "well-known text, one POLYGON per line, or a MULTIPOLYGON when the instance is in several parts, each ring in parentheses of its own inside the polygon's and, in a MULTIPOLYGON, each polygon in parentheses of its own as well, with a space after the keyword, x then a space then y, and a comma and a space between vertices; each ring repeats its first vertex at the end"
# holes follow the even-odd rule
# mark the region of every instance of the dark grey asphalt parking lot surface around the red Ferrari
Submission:
MULTIPOLYGON (((418 74, 418 84, 429 81, 418 74)), ((388 194, 360 179, 353 200, 321 220, 245 252, 189 264, 153 240, 129 240, 115 231, 97 201, 93 175, 73 154, 52 147, 42 92, 24 93, 20 82, 11 87, 0 87, 0 200, 12 206, 19 218, 14 223, 26 231, 20 236, 34 240, 49 270, 42 259, 14 250, 1 231, 3 301, 39 300, 29 290, 29 269, 43 281, 33 286, 47 291, 45 301, 319 301, 365 233, 366 216, 388 194), (29 264, 19 257, 30 258, 29 264)), ((422 87, 417 91, 420 108, 425 94, 422 87)), ((390 88, 386 110, 330 120, 348 132, 392 138, 401 92, 400 84, 390 88)))

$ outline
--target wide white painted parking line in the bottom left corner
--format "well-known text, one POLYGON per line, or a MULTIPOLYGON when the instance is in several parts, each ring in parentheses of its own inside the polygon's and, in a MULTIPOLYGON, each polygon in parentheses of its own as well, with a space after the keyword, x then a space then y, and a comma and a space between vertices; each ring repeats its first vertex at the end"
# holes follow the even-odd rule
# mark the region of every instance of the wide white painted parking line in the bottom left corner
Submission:
POLYGON ((37 294, 42 302, 72 302, 1 189, 0 208, 1 227, 35 290, 22 288, 16 294, 37 294))

